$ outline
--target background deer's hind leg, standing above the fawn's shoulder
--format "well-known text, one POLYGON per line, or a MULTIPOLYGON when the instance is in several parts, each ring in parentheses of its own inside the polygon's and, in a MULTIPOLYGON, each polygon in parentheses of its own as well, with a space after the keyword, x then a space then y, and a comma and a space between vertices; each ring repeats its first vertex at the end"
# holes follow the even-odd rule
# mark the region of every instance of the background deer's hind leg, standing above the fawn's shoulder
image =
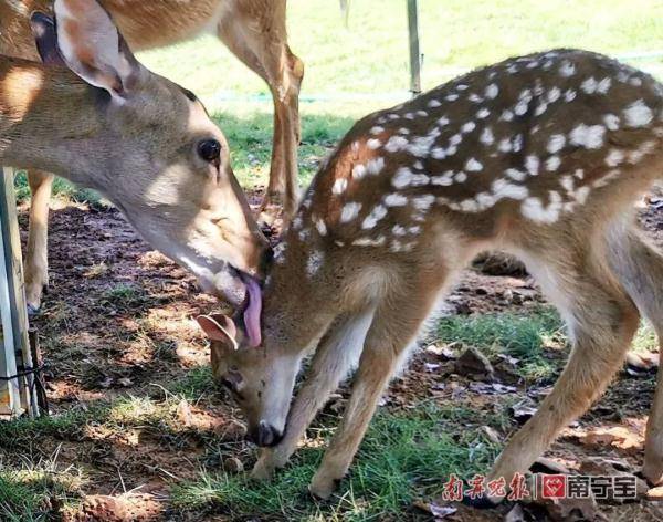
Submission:
POLYGON ((270 86, 274 100, 274 140, 263 209, 272 212, 283 202, 285 216, 290 218, 298 199, 298 97, 304 64, 287 45, 285 1, 275 2, 270 12, 271 18, 264 12, 249 12, 224 20, 219 27, 219 38, 270 86))

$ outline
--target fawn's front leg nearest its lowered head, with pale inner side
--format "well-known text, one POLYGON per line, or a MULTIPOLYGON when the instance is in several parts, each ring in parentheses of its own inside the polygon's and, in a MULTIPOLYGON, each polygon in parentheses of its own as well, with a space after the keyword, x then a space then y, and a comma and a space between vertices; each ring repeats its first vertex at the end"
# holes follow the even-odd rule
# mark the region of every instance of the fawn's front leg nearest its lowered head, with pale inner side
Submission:
POLYGON ((306 382, 288 414, 285 436, 276 447, 261 451, 253 468, 253 478, 267 479, 274 469, 285 466, 317 411, 357 364, 373 313, 372 309, 368 309, 340 317, 322 340, 306 382))

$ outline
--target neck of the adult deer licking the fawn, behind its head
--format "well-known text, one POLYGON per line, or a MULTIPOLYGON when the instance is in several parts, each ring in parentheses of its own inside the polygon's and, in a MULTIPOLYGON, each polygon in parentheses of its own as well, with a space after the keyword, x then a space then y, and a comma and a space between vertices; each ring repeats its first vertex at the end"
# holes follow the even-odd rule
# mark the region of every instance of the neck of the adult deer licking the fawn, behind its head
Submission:
POLYGON ((106 155, 104 96, 72 73, 31 62, 0 61, 0 158, 52 170, 97 188, 106 155))

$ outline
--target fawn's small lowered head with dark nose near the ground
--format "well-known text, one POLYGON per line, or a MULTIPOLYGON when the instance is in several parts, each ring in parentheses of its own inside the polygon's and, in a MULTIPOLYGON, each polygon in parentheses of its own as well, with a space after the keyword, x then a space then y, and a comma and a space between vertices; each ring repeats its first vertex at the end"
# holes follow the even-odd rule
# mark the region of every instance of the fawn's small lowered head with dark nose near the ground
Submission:
POLYGON ((211 343, 212 373, 242 409, 248 438, 271 447, 283 438, 301 355, 276 353, 260 337, 252 340, 248 317, 232 320, 213 314, 198 317, 211 343), (255 344, 257 342, 257 345, 255 344))

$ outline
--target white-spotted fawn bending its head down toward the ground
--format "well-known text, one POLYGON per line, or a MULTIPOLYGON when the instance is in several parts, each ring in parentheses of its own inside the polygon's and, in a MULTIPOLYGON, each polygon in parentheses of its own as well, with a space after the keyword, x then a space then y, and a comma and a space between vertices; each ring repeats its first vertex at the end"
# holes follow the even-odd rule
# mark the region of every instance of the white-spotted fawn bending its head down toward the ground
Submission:
MULTIPOLYGON (((633 201, 663 177, 662 142, 663 85, 575 50, 507 60, 359 122, 314 179, 275 257, 264 341, 252 346, 256 336, 228 317, 199 320, 214 375, 239 397, 257 443, 273 446, 254 474, 285 464, 358 361, 311 486, 329 497, 441 292, 486 249, 526 262, 573 345, 491 479, 508 483, 527 470, 602 393, 640 314, 663 335, 663 255, 633 216, 633 201), (290 408, 299 363, 316 344, 290 408)), ((663 479, 661 375, 646 432, 652 482, 663 479)))

